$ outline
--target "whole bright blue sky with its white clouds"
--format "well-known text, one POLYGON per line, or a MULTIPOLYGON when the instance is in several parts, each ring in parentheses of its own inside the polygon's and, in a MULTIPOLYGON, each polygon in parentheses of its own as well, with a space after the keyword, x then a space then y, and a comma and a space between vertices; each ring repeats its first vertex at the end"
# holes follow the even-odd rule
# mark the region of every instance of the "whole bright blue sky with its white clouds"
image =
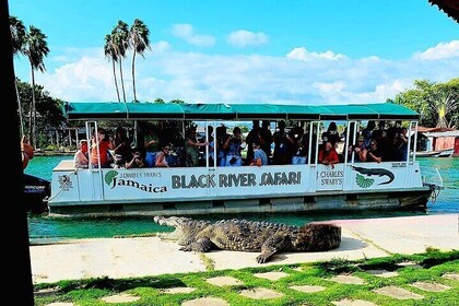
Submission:
MULTIPOLYGON (((68 102, 117 101, 104 38, 118 20, 151 31, 136 60, 140 101, 384 103, 414 80, 459 76, 459 24, 427 0, 10 0, 9 11, 47 36, 36 83, 68 102)), ((25 57, 14 69, 31 82, 25 57)))

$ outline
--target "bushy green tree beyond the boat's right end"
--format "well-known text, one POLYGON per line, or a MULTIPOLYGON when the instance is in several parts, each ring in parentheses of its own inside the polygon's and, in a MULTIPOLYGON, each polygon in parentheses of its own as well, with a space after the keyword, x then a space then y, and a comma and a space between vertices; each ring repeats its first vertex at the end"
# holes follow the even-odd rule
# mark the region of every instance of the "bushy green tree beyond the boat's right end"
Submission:
POLYGON ((420 113, 422 126, 459 127, 459 78, 447 83, 415 80, 414 86, 388 102, 402 104, 420 113))

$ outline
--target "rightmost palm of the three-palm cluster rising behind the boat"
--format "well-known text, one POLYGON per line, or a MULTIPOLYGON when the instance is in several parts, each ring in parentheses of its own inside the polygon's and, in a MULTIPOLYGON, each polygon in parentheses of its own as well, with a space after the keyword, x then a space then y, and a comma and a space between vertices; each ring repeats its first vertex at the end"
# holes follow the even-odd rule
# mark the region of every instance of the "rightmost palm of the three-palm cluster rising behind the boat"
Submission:
POLYGON ((134 95, 134 102, 137 101, 136 93, 136 55, 139 54, 143 57, 143 52, 146 48, 150 49, 150 30, 139 19, 136 19, 131 28, 129 30, 129 44, 132 47, 132 90, 134 95))

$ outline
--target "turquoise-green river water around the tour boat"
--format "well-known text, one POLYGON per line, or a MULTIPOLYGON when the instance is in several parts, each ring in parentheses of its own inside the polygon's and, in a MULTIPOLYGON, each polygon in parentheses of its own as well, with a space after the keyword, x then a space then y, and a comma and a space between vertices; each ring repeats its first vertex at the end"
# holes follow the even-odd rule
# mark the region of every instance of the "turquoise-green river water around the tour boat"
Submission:
MULTIPOLYGON (((35 156, 30 161, 25 173, 45 179, 51 179, 51 169, 62 160, 72 156, 35 156)), ((243 217, 257 221, 270 221, 291 225, 303 225, 311 221, 333 219, 366 219, 389 217, 413 214, 442 214, 459 213, 459 157, 419 158, 422 168, 438 168, 445 189, 442 190, 435 202, 429 201, 427 212, 346 212, 346 213, 283 213, 283 214, 250 214, 243 217)), ((207 215, 207 220, 223 219, 222 215, 207 215)), ((227 216, 226 216, 227 217, 227 216)), ((151 217, 122 217, 122 219, 56 219, 40 215, 28 216, 28 233, 32 243, 42 240, 60 240, 69 238, 114 237, 127 235, 142 235, 156 232, 170 231, 160 226, 151 217)))

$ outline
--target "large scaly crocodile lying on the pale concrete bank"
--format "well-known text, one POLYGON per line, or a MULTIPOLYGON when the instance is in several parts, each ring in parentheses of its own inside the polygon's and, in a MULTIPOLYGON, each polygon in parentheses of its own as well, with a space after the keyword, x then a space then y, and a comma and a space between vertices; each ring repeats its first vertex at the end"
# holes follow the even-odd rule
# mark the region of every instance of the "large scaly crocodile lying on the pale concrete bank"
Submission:
POLYGON ((237 219, 212 223, 185 216, 154 216, 153 221, 175 227, 163 238, 177 240, 183 251, 220 249, 261 252, 257 257, 258 263, 264 263, 283 251, 326 251, 341 244, 341 227, 329 223, 309 223, 298 227, 237 219))

